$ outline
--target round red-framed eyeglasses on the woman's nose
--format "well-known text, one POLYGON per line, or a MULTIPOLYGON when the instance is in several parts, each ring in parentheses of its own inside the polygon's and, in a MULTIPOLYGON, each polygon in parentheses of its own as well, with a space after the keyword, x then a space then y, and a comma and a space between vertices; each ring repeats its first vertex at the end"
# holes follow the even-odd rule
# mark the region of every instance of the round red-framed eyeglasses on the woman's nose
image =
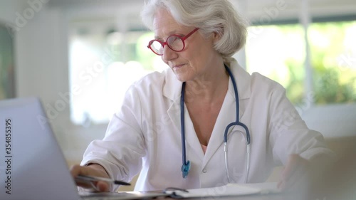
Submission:
POLYGON ((167 44, 167 46, 172 49, 173 51, 176 52, 181 52, 185 48, 185 43, 184 41, 189 38, 189 36, 192 36, 195 31, 198 31, 199 28, 195 28, 192 32, 188 33, 187 36, 179 36, 179 35, 172 35, 167 38, 167 41, 162 42, 159 40, 152 40, 148 43, 147 48, 150 48, 153 53, 156 53, 158 56, 163 55, 163 50, 164 46, 167 44))

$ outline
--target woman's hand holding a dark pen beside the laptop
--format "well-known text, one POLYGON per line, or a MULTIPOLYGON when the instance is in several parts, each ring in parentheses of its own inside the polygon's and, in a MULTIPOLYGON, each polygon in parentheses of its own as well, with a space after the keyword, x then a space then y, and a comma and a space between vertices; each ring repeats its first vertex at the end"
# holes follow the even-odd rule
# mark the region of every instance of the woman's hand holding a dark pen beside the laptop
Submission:
MULTIPOLYGON (((70 167, 70 174, 73 179, 78 175, 109 178, 108 173, 100 164, 89 164, 88 166, 76 164, 70 167)), ((94 186, 83 181, 76 181, 76 184, 85 189, 93 189, 93 191, 110 191, 110 184, 106 181, 93 181, 94 186)))

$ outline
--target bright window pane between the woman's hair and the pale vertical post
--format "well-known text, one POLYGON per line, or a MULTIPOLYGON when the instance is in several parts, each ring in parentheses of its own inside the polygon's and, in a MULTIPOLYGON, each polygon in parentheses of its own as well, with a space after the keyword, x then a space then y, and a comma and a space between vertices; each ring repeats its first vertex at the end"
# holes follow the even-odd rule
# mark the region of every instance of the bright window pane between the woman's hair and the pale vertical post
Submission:
POLYGON ((258 72, 281 83, 295 104, 304 96, 303 39, 300 25, 248 28, 246 69, 249 73, 258 72))

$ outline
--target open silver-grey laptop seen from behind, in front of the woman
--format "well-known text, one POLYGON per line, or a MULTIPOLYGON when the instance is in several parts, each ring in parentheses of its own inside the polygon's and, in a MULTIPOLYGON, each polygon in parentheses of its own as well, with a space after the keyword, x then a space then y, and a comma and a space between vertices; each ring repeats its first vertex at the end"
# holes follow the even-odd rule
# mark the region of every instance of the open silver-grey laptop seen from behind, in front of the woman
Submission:
POLYGON ((79 194, 38 98, 0 100, 0 199, 149 199, 162 193, 79 194))

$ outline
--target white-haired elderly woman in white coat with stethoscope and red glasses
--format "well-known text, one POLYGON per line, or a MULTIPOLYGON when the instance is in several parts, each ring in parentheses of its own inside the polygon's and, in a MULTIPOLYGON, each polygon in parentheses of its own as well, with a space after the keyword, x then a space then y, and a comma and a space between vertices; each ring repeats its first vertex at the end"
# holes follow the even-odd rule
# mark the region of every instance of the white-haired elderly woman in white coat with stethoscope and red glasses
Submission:
POLYGON ((308 129, 283 87, 246 73, 231 57, 246 41, 233 7, 227 0, 147 2, 142 19, 155 32, 147 47, 169 68, 127 90, 103 140, 91 142, 72 167, 73 177, 130 181, 140 173, 137 191, 194 189, 263 182, 283 164, 283 189, 330 157, 323 136, 308 129))

